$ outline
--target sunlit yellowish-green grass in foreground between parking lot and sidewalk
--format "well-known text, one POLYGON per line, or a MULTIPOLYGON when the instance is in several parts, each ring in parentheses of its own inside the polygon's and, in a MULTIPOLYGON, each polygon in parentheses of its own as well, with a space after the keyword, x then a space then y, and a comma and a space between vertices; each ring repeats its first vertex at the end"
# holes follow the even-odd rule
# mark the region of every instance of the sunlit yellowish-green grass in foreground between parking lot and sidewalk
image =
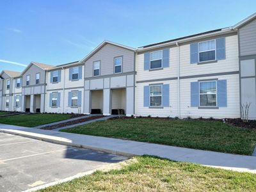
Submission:
POLYGON ((256 174, 177 163, 152 156, 40 191, 256 191, 256 174))

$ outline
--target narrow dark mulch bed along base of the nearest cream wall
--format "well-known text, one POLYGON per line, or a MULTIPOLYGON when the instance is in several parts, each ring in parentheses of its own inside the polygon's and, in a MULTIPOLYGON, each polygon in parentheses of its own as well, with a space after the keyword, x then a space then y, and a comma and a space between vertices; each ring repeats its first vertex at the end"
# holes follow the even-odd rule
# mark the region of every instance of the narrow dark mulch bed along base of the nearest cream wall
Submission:
MULTIPOLYGON (((118 116, 115 116, 113 118, 109 118, 109 120, 115 120, 115 119, 132 119, 133 116, 121 116, 120 118, 118 116)), ((136 118, 152 118, 157 120, 177 120, 179 118, 172 118, 172 117, 149 117, 149 116, 136 116, 136 118)), ((246 128, 246 129, 256 129, 256 120, 248 120, 248 122, 243 122, 241 118, 184 118, 183 120, 203 120, 207 122, 211 121, 218 121, 223 122, 225 124, 233 125, 236 127, 246 128)))

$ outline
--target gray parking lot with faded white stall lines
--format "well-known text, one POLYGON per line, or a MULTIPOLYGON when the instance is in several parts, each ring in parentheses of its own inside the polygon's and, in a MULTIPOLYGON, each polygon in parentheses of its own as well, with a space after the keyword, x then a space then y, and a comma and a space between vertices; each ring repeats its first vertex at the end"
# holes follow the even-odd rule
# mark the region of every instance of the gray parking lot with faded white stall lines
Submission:
POLYGON ((125 159, 0 132, 0 191, 24 191, 125 159))

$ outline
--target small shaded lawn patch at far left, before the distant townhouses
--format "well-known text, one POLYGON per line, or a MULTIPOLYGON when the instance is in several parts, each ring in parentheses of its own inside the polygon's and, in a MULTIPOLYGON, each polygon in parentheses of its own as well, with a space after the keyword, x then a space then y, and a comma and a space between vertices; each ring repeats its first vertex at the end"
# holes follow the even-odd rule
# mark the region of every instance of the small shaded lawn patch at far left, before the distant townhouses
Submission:
POLYGON ((70 118, 69 114, 29 114, 14 115, 0 118, 0 124, 18 125, 24 127, 35 127, 38 125, 50 124, 70 118))

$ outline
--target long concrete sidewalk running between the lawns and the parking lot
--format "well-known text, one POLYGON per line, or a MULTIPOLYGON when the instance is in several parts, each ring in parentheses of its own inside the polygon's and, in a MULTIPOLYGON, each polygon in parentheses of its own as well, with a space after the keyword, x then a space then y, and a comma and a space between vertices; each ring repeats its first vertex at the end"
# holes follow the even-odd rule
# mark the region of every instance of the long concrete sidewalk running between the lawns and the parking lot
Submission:
POLYGON ((89 148, 122 156, 141 156, 148 154, 174 161, 186 161, 238 172, 256 173, 256 157, 253 156, 224 154, 207 150, 195 150, 191 148, 118 140, 68 132, 46 131, 3 124, 0 125, 0 132, 18 134, 38 140, 51 141, 52 143, 89 148))

